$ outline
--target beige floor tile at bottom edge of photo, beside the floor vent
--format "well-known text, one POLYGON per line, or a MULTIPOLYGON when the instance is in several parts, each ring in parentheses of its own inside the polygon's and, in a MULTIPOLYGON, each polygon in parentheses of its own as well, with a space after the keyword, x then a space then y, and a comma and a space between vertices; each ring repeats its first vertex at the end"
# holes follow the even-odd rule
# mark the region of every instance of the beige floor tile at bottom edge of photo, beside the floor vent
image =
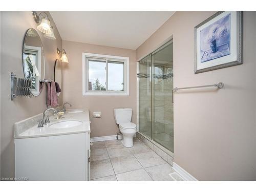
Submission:
POLYGON ((172 166, 170 166, 168 163, 153 167, 147 167, 145 168, 145 170, 154 181, 174 181, 169 176, 169 174, 173 173, 174 171, 172 169, 172 166))

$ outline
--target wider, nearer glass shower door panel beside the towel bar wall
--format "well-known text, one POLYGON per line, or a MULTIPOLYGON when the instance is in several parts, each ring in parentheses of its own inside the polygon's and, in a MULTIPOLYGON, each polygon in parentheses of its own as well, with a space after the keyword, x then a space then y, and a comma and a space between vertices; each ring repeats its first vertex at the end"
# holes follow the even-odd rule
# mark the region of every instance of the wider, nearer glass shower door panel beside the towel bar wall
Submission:
POLYGON ((152 139, 174 152, 173 43, 152 55, 152 139))

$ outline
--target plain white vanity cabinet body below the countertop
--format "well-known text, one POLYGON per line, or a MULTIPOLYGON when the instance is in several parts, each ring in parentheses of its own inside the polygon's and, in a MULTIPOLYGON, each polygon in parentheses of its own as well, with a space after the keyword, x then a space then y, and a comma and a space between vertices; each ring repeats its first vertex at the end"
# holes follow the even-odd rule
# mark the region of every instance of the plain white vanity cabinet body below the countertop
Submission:
POLYGON ((90 133, 15 139, 15 177, 90 180, 90 133))

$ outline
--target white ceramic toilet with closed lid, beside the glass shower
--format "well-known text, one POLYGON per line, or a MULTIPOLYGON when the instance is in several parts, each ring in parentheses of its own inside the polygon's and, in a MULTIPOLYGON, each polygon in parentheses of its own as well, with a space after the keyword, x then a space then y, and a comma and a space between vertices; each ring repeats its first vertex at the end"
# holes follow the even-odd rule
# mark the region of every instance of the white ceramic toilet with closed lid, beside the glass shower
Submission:
POLYGON ((119 124, 119 130, 123 134, 122 143, 125 147, 133 146, 133 136, 137 132, 136 124, 132 123, 131 108, 114 109, 115 121, 119 124))

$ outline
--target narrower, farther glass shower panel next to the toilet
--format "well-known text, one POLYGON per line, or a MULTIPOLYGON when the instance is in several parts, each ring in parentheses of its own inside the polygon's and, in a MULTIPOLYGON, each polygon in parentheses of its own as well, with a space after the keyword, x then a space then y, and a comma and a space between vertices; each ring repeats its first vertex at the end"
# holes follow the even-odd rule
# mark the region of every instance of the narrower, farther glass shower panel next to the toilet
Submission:
POLYGON ((139 61, 139 129, 152 139, 152 57, 139 61))

